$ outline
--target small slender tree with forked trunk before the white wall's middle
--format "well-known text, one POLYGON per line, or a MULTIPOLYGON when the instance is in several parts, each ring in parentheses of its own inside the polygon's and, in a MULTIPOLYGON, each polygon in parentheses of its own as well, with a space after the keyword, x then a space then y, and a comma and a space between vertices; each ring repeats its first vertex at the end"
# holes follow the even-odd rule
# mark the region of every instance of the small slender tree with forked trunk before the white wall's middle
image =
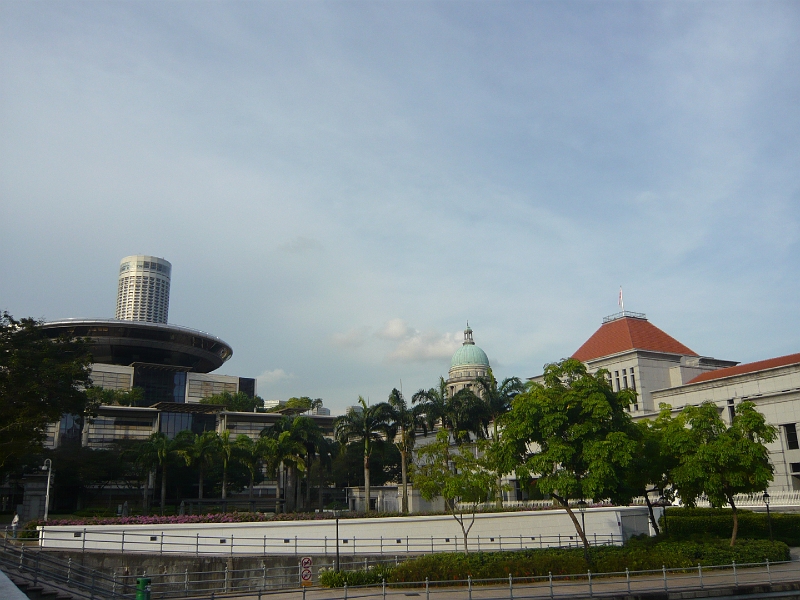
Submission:
POLYGON ((494 479, 492 470, 475 454, 475 448, 469 445, 451 451, 450 436, 447 431, 440 430, 435 442, 417 452, 414 465, 414 485, 422 497, 428 501, 444 498, 453 518, 461 526, 464 554, 469 553, 468 538, 475 524, 477 505, 488 498, 494 479), (471 504, 469 524, 465 504, 471 504))

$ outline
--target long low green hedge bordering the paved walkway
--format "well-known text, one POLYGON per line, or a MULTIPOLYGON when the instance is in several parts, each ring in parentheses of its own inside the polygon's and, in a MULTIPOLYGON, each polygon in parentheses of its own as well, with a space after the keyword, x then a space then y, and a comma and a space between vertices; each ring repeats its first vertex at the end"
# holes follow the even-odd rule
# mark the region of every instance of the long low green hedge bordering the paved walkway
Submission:
MULTIPOLYGON (((632 539, 625 546, 591 549, 592 571, 595 573, 693 568, 702 565, 739 564, 789 560, 789 547, 783 542, 740 540, 731 548, 726 540, 658 541, 651 538, 632 539)), ((473 552, 428 554, 400 563, 397 567, 375 567, 368 571, 332 571, 320 576, 320 585, 341 587, 380 583, 419 582, 473 579, 500 579, 586 573, 581 548, 549 548, 516 552, 473 552)))

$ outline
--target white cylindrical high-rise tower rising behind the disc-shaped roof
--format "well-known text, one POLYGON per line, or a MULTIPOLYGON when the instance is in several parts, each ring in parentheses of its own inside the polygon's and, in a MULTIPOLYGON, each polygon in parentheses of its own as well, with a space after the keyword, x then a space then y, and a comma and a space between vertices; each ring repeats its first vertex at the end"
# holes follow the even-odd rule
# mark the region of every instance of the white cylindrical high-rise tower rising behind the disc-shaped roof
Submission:
POLYGON ((119 264, 117 319, 166 323, 172 264, 157 256, 126 256, 119 264))

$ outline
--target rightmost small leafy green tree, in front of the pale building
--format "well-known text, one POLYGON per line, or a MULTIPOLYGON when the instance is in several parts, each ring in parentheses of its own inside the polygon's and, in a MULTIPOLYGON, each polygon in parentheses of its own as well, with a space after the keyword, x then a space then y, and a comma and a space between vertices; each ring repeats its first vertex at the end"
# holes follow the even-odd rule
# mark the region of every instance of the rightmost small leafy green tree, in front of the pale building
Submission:
POLYGON ((736 407, 730 427, 720 410, 713 402, 687 406, 666 429, 664 442, 678 456, 672 480, 686 505, 705 494, 711 506, 731 507, 733 546, 739 531, 734 496, 767 489, 773 467, 765 444, 775 441, 777 431, 752 402, 736 407))

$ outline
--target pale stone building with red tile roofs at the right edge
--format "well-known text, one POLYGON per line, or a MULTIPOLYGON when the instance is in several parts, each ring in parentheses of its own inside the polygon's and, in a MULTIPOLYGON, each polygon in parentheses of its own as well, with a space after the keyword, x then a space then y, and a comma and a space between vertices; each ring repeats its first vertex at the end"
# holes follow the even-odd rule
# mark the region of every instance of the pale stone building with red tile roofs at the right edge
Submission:
POLYGON ((590 372, 606 369, 614 391, 636 391, 634 419, 655 418, 662 403, 677 413, 714 402, 730 423, 738 404, 755 403, 779 430, 778 439, 768 445, 775 467, 770 494, 800 490, 800 354, 748 364, 700 356, 645 315, 623 311, 603 319, 572 358, 590 372))

